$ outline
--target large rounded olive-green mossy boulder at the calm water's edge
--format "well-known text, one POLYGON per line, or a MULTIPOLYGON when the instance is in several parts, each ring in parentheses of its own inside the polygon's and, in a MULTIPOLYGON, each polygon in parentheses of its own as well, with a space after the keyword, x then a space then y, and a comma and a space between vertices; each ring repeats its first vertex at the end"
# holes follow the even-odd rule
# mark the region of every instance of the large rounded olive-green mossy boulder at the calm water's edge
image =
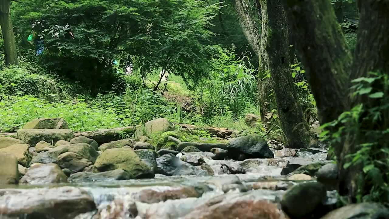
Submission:
POLYGON ((132 148, 112 148, 105 150, 96 160, 99 171, 123 169, 131 178, 153 178, 154 172, 140 159, 132 148))

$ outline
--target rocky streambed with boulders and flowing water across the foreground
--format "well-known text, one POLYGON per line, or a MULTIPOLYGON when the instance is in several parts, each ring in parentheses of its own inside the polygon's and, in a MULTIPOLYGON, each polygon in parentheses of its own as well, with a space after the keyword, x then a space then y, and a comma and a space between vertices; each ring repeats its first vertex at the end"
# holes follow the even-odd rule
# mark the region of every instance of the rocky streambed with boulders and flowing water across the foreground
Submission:
POLYGON ((0 219, 388 218, 377 203, 338 208, 324 145, 187 141, 166 119, 144 130, 163 138, 74 136, 61 118, 0 137, 0 219))

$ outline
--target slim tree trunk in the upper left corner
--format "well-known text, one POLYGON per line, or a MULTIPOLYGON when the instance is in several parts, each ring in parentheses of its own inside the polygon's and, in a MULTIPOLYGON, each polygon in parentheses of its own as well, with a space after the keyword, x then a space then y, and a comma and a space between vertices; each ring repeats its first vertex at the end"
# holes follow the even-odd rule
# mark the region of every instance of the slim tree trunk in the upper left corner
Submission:
POLYGON ((5 51, 5 64, 17 65, 16 43, 11 20, 11 1, 2 0, 0 3, 0 25, 2 28, 5 51))

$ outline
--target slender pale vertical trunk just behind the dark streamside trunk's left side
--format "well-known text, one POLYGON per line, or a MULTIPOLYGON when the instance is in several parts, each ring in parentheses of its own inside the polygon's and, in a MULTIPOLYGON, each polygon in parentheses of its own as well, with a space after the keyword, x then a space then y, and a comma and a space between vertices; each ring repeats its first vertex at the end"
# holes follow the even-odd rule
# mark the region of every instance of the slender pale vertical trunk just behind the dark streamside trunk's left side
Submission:
POLYGON ((266 115, 275 108, 276 102, 274 96, 272 95, 272 82, 270 78, 264 77, 269 71, 269 56, 266 52, 266 44, 268 41, 268 12, 266 0, 259 0, 259 4, 261 8, 257 8, 257 10, 261 18, 261 49, 259 51, 260 55, 258 56, 258 103, 261 112, 262 124, 268 127, 268 118, 266 118, 266 115))

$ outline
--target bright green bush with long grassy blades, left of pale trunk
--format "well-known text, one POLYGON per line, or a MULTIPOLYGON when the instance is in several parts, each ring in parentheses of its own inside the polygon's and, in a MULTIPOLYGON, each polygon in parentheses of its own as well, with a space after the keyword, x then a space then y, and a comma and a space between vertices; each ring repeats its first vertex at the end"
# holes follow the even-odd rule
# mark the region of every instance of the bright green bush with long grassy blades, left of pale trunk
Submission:
POLYGON ((215 47, 210 79, 204 79, 196 90, 198 111, 206 117, 228 111, 234 117, 240 116, 256 100, 256 71, 249 57, 237 58, 233 50, 215 47))

